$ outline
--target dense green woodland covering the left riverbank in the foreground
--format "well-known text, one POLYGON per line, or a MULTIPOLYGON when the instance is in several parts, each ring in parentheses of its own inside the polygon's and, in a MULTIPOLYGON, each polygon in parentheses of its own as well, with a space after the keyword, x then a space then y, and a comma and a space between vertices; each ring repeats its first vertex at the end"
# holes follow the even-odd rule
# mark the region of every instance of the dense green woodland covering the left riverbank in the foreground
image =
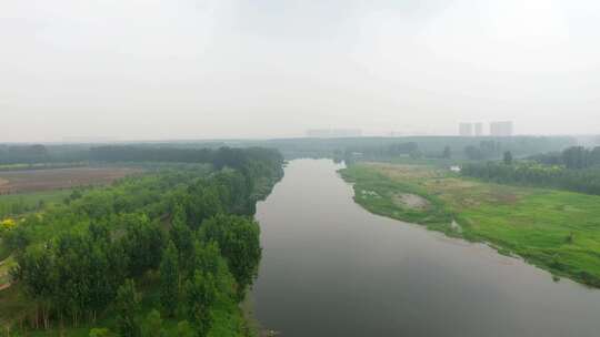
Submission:
POLYGON ((74 192, 4 233, 14 283, 33 303, 14 318, 62 330, 116 315, 119 336, 149 336, 164 315, 191 336, 226 323, 241 334, 237 304, 261 255, 257 190, 281 176, 282 161, 259 149, 216 153, 211 173, 169 171, 74 192), (159 275, 160 302, 142 320, 137 283, 148 273, 159 275))

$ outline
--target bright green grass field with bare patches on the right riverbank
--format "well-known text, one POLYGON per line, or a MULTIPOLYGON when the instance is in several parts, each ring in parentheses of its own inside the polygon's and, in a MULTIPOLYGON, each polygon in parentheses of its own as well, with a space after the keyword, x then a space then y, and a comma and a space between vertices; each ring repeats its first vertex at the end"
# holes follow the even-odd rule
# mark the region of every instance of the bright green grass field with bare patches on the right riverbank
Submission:
POLYGON ((361 163, 341 173, 372 213, 488 242, 553 275, 600 287, 600 196, 483 183, 418 165, 361 163), (429 203, 399 203, 406 194, 429 203))

